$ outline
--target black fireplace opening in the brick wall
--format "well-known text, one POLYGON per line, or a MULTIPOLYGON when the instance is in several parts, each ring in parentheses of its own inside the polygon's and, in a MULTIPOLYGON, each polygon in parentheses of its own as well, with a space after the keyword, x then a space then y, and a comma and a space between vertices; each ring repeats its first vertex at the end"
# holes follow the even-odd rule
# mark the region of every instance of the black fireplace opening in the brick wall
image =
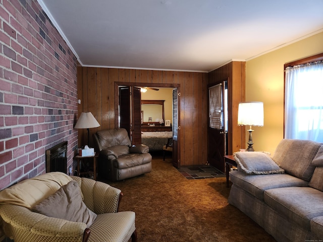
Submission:
POLYGON ((46 150, 46 172, 67 172, 67 141, 46 150))

